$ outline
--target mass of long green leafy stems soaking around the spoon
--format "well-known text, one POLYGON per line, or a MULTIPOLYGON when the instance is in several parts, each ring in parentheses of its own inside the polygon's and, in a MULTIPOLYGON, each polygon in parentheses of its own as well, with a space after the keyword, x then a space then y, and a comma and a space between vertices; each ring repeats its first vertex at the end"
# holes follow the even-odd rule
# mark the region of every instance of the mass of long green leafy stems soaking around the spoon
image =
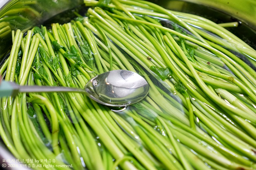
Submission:
POLYGON ((256 169, 253 48, 221 25, 147 1, 84 2, 94 7, 88 18, 12 31, 0 74, 84 88, 126 69, 145 77, 149 94, 121 112, 79 93, 2 98, 0 135, 16 158, 51 159, 51 169, 256 169))

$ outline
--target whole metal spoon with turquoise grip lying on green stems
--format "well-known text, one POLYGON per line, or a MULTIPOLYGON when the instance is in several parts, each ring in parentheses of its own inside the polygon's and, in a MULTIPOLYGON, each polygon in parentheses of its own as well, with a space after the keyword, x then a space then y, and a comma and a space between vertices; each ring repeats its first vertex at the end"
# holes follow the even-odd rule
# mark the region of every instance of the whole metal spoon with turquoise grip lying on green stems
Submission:
POLYGON ((100 104, 121 107, 137 103, 145 98, 149 92, 149 85, 143 77, 128 70, 112 70, 100 74, 88 81, 85 89, 58 86, 20 86, 7 81, 2 81, 0 85, 0 97, 29 92, 84 93, 100 104))

